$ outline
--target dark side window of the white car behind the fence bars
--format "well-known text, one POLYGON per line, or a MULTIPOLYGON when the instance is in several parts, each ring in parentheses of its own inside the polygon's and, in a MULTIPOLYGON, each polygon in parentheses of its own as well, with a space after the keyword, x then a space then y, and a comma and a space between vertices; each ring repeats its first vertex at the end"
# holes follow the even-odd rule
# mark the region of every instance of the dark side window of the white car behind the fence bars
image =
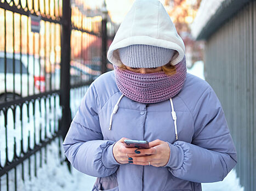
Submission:
MULTIPOLYGON (((6 58, 6 65, 7 65, 7 71, 6 73, 13 74, 13 59, 12 58, 6 58)), ((20 60, 14 59, 14 67, 15 67, 15 74, 20 74, 20 70, 22 74, 27 74, 27 68, 23 63, 21 63, 21 69, 20 69, 20 60)), ((4 58, 0 58, 0 73, 4 73, 4 58)))

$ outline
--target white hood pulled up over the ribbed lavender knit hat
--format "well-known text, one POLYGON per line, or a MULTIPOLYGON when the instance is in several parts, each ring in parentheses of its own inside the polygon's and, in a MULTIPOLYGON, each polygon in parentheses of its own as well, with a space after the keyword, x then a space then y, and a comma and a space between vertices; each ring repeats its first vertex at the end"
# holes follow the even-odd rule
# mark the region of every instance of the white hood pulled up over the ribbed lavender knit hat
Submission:
POLYGON ((112 64, 122 64, 117 49, 133 44, 145 44, 176 50, 171 64, 178 64, 185 56, 185 45, 178 35, 162 3, 158 0, 136 0, 124 17, 107 58, 112 64))

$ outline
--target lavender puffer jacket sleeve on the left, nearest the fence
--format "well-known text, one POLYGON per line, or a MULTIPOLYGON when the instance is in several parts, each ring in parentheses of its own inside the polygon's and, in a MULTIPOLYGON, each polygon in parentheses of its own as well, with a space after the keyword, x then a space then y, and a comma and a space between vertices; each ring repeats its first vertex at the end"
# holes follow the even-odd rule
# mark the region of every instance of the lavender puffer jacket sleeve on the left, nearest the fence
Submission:
POLYGON ((119 163, 112 152, 115 141, 103 140, 98 105, 98 96, 92 84, 82 99, 62 146, 65 156, 78 171, 104 177, 115 173, 119 163))

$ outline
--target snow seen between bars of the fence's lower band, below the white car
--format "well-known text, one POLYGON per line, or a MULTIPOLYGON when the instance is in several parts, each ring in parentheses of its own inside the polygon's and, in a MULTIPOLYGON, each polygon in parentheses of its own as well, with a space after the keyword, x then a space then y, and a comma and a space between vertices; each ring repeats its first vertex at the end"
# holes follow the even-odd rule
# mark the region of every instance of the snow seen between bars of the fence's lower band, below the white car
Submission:
POLYGON ((59 96, 55 96, 55 98, 51 96, 46 99, 42 98, 41 100, 36 99, 35 108, 32 102, 29 105, 23 104, 21 107, 16 106, 15 115, 13 109, 9 108, 7 110, 6 127, 4 112, 3 110, 0 111, 0 163, 2 166, 5 165, 6 157, 12 162, 14 152, 20 157, 21 147, 26 153, 29 147, 35 147, 35 143, 39 145, 40 136, 42 140, 45 140, 45 136, 52 138, 55 134, 54 131, 58 130, 58 120, 62 115, 59 102, 59 96), (22 119, 20 119, 21 113, 22 119), (22 145, 21 139, 23 141, 22 145), (16 151, 14 150, 14 141, 16 142, 16 151), (8 148, 7 154, 6 147, 8 148))

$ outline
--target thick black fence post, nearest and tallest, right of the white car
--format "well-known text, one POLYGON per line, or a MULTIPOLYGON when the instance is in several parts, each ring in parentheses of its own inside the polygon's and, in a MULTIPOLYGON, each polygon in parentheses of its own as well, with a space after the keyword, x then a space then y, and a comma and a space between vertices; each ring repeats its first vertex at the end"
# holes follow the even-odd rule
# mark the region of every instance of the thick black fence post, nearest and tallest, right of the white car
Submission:
POLYGON ((62 118, 61 135, 64 139, 71 123, 70 110, 70 38, 71 38, 71 6, 70 0, 62 1, 61 31, 61 71, 60 71, 60 104, 62 118))

